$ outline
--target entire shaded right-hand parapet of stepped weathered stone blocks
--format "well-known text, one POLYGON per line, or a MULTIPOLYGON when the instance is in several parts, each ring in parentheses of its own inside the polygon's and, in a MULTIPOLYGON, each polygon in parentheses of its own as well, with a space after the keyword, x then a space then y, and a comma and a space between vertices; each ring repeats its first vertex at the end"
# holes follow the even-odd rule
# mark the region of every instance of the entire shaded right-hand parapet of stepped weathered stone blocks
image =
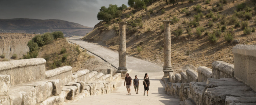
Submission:
POLYGON ((256 105, 254 52, 255 45, 237 45, 235 65, 214 61, 212 69, 185 65, 186 72, 169 72, 168 78, 162 78, 165 91, 179 98, 180 105, 256 105))

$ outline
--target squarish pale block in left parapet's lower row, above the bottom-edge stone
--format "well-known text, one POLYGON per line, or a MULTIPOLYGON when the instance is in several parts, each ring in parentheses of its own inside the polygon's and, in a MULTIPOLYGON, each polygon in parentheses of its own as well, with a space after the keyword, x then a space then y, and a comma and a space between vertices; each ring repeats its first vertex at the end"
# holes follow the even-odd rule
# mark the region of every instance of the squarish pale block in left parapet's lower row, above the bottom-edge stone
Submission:
POLYGON ((36 81, 25 84, 25 86, 32 86, 36 90, 36 102, 46 100, 52 94, 52 83, 47 81, 36 81))

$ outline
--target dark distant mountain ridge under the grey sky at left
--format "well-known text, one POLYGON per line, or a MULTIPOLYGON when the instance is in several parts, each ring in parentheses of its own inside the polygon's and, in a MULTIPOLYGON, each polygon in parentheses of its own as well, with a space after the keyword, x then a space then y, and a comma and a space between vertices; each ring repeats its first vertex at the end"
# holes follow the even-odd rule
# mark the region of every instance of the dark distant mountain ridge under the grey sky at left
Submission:
POLYGON ((42 34, 46 32, 62 31, 65 37, 71 37, 74 35, 84 36, 92 31, 92 29, 93 27, 55 19, 0 19, 0 33, 42 34))

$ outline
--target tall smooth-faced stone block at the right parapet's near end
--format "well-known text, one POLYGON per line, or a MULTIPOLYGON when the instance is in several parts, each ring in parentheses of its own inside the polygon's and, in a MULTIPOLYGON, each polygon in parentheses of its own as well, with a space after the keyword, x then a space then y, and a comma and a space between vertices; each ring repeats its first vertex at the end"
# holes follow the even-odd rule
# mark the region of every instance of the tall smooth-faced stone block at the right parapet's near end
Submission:
POLYGON ((234 53, 234 76, 256 91, 256 45, 236 45, 234 53))

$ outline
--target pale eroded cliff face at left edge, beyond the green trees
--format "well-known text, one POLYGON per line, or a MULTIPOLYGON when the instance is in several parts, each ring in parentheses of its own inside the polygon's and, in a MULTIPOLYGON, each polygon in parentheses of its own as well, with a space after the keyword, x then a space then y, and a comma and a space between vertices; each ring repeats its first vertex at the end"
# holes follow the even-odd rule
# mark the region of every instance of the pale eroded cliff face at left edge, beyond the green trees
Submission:
MULTIPOLYGON (((12 55, 17 54, 17 59, 21 58, 23 54, 29 52, 27 43, 36 34, 23 33, 0 33, 0 55, 5 55, 8 60, 12 59, 12 55)), ((3 60, 0 58, 0 60, 3 60)))

